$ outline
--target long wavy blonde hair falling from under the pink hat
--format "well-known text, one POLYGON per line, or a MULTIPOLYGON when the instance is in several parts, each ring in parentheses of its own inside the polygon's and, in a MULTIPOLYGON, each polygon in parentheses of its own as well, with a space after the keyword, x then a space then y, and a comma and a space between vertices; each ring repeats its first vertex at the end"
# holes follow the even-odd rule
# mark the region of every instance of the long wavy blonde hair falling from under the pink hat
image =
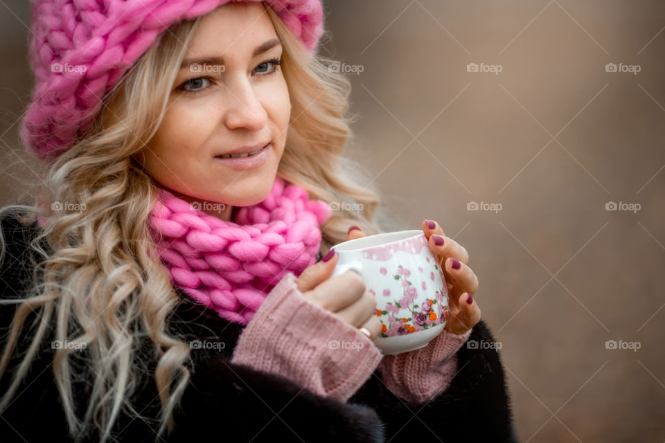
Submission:
MULTIPOLYGON (((368 235, 382 232, 375 222, 377 192, 360 185, 371 180, 342 155, 351 140, 351 119, 346 116, 351 84, 328 69, 330 60, 308 55, 300 40, 263 6, 283 44, 282 69, 292 102, 278 175, 335 209, 321 226, 321 253, 344 241, 351 224, 368 235)), ((17 309, 0 359, 0 379, 28 314, 34 311, 38 318, 28 350, 0 400, 0 411, 26 376, 55 315, 55 340, 85 343, 83 350, 60 347, 53 359, 73 438, 82 440, 99 431, 100 440, 108 440, 121 411, 150 426, 150 417, 130 404, 143 377, 154 377, 159 392, 156 433, 161 436, 175 425, 172 415, 190 377, 190 347, 167 329, 179 296, 161 262, 154 259, 158 255, 148 215, 157 188, 135 155, 163 120, 179 64, 200 19, 181 21, 163 33, 107 93, 87 134, 48 165, 45 186, 37 192, 42 197, 31 205, 0 210, 0 218, 16 213, 25 222, 47 217, 30 244, 36 257, 31 256, 32 282, 24 299, 1 300, 17 304, 17 309), (66 201, 67 206, 48 210, 54 201, 66 201), (145 340, 150 345, 141 346, 145 340), (154 371, 147 361, 157 361, 154 371), (80 380, 92 385, 83 418, 76 413, 72 390, 72 382, 80 380)), ((1 234, 3 262, 6 240, 1 234)))

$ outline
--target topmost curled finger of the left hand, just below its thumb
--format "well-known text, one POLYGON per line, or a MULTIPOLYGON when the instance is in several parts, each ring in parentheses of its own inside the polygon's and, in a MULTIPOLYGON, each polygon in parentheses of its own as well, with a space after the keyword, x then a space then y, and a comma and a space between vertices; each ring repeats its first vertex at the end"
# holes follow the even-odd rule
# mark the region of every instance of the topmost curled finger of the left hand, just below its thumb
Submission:
MULTIPOLYGON (((362 277, 354 271, 346 271, 328 278, 328 280, 312 289, 307 296, 323 309, 337 313, 346 307, 353 306, 362 298, 365 292, 366 287, 362 277)), ((371 293, 367 293, 372 296, 371 293)), ((372 298, 374 297, 372 296, 372 298)), ((376 300, 374 300, 374 303, 376 303, 376 300)))

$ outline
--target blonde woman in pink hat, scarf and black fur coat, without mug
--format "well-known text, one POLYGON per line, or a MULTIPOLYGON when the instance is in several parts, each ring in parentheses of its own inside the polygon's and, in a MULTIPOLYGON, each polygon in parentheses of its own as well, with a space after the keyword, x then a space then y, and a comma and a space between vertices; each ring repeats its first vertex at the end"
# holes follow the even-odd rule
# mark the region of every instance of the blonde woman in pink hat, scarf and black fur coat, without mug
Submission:
POLYGON ((387 219, 343 156, 322 12, 33 2, 21 137, 44 174, 1 212, 3 442, 511 439, 499 356, 464 345, 493 341, 477 278, 435 221, 451 315, 427 347, 382 356, 373 296, 330 277, 387 219))

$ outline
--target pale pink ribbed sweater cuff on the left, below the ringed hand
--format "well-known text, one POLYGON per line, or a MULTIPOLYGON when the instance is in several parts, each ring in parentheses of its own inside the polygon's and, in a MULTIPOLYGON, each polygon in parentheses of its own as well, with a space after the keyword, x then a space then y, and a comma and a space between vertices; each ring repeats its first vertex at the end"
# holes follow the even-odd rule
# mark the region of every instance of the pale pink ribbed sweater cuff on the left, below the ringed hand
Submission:
POLYGON ((315 394, 350 398, 382 354, 360 329, 310 302, 287 273, 243 329, 231 363, 278 374, 315 394))

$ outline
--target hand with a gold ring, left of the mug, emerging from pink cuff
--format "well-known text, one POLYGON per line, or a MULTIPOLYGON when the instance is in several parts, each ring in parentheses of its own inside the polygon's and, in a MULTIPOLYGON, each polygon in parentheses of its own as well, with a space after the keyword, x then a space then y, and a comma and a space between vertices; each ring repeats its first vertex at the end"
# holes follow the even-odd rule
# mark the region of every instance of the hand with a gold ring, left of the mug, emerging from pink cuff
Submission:
MULTIPOLYGON (((324 257, 326 258, 326 257, 324 257)), ((360 275, 346 271, 330 278, 339 254, 334 253, 328 261, 312 264, 296 280, 298 289, 310 302, 316 303, 342 318, 354 327, 364 327, 374 340, 381 332, 381 322, 376 315, 376 299, 366 291, 360 275)))

